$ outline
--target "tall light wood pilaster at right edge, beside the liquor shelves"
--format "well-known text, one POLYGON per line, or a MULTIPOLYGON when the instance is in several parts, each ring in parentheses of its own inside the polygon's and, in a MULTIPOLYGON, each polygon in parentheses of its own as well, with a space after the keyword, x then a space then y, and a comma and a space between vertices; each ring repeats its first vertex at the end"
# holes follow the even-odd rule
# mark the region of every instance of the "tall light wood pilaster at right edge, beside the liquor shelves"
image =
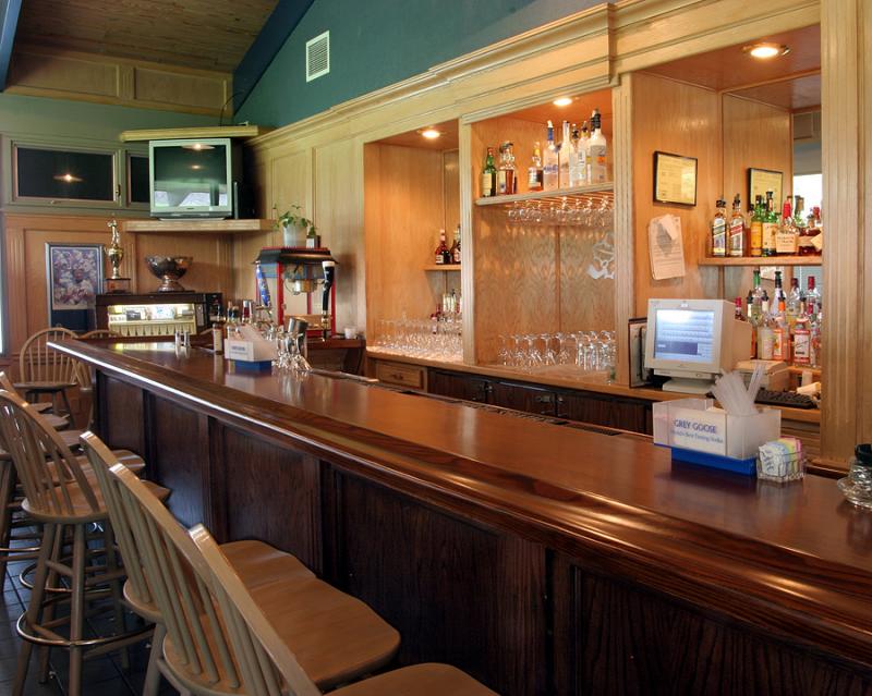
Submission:
POLYGON ((822 451, 845 460, 853 444, 872 439, 868 393, 872 297, 864 292, 870 231, 865 186, 872 157, 865 136, 872 123, 868 52, 872 17, 865 0, 823 0, 821 5, 824 209, 827 235, 824 273, 822 451))

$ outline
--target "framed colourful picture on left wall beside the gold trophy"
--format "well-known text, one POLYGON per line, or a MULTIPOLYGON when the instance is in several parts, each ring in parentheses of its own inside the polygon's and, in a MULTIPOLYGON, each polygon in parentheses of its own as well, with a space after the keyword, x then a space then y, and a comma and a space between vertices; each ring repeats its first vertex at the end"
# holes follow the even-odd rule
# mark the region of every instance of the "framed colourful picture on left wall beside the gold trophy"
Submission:
POLYGON ((49 326, 96 328, 95 302, 104 281, 102 244, 46 244, 49 326))

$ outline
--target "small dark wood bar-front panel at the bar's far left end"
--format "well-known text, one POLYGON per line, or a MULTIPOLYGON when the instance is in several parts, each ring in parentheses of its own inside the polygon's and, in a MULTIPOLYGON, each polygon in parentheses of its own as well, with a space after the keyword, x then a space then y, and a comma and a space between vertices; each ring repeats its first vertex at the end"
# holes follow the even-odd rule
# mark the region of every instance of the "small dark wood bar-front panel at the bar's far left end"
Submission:
POLYGON ((145 456, 146 413, 144 392, 118 379, 97 373, 97 431, 109 447, 145 456))

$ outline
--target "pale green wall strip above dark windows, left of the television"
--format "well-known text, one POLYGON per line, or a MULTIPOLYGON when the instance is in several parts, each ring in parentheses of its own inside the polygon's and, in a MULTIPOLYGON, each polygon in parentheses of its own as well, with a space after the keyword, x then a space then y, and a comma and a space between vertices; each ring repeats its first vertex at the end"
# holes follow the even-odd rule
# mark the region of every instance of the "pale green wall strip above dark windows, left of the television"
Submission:
POLYGON ((218 125, 213 117, 0 93, 0 134, 118 143, 121 131, 218 125))

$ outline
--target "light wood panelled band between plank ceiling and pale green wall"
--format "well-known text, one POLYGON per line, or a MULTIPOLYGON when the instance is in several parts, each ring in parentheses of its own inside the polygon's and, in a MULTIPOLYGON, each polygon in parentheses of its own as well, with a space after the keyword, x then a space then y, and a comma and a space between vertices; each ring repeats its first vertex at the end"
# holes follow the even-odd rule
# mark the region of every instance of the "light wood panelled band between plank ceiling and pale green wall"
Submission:
POLYGON ((33 45, 15 46, 7 91, 205 115, 233 93, 229 73, 33 45))

